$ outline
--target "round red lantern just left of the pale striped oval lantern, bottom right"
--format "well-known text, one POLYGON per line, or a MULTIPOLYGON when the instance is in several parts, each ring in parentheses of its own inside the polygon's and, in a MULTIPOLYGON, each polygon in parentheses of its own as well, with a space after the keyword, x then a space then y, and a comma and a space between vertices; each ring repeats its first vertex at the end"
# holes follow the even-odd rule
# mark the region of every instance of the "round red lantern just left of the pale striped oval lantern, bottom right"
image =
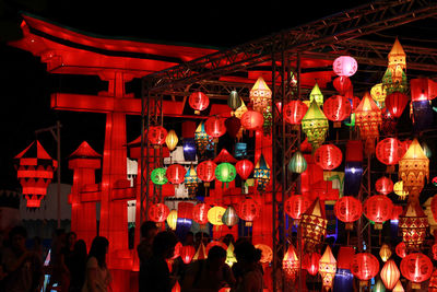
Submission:
POLYGON ((361 280, 361 285, 374 278, 379 271, 378 259, 369 253, 354 255, 351 262, 351 272, 361 280))

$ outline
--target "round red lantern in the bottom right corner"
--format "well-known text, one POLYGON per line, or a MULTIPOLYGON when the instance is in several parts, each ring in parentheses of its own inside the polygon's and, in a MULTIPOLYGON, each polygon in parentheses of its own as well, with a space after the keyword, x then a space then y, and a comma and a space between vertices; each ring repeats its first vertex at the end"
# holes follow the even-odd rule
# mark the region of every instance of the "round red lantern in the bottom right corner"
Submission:
POLYGON ((421 283, 433 273, 433 262, 422 253, 413 253, 401 260, 402 276, 412 281, 412 289, 421 289, 421 283))

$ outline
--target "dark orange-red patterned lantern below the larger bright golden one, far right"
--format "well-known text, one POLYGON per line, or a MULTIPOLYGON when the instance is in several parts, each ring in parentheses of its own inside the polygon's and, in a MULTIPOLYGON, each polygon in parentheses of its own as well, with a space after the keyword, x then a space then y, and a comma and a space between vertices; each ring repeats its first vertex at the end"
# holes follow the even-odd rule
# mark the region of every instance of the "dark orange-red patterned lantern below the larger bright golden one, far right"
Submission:
POLYGON ((428 218, 422 210, 418 200, 410 201, 399 217, 399 230, 408 250, 420 250, 428 226, 428 218))

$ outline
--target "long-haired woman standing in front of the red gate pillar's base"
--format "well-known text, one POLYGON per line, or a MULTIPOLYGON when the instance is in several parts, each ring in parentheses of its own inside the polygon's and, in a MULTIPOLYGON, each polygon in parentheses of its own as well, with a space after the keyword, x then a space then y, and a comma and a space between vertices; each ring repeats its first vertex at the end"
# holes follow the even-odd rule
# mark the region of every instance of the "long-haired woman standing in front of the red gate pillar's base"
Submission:
POLYGON ((106 266, 106 254, 109 242, 106 237, 94 237, 86 260, 85 282, 83 292, 107 292, 111 281, 109 270, 106 266))

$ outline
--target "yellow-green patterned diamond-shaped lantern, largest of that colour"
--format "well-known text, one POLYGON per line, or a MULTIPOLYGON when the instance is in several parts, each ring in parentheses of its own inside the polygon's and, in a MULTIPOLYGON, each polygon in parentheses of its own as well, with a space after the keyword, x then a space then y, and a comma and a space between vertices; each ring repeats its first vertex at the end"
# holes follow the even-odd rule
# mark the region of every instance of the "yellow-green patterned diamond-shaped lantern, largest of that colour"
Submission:
POLYGON ((316 102, 311 102, 307 113, 302 119, 302 129, 314 150, 323 143, 328 133, 328 128, 329 122, 323 112, 316 102))

